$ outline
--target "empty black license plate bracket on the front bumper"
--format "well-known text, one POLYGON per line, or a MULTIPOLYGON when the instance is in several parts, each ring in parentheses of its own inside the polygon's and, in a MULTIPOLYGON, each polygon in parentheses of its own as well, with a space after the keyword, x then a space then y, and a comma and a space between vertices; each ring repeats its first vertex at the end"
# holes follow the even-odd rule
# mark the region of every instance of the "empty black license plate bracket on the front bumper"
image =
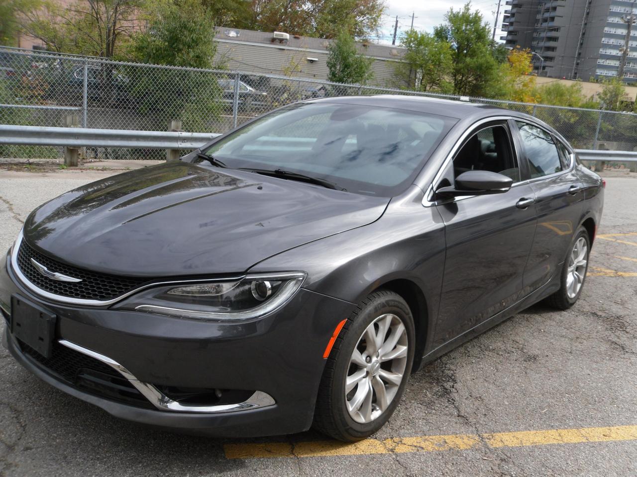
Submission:
POLYGON ((11 296, 11 334, 44 357, 51 357, 55 336, 54 313, 26 300, 11 296))

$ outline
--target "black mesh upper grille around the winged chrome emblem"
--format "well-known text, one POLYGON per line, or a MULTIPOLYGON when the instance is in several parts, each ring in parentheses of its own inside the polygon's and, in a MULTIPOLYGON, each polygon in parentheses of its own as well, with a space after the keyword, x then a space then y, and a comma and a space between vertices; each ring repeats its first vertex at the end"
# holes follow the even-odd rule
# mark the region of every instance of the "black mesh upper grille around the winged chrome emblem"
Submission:
POLYGON ((83 300, 113 300, 122 294, 136 289, 148 282, 148 279, 133 277, 117 277, 115 275, 107 275, 106 273, 90 272, 75 268, 74 266, 64 265, 54 259, 48 258, 46 255, 33 249, 23 239, 18 249, 18 267, 20 272, 39 289, 48 291, 59 296, 67 296, 69 298, 81 298, 83 300), (44 265, 51 272, 63 273, 76 279, 82 279, 81 282, 61 282, 45 277, 33 266, 31 258, 35 259, 41 265, 44 265))

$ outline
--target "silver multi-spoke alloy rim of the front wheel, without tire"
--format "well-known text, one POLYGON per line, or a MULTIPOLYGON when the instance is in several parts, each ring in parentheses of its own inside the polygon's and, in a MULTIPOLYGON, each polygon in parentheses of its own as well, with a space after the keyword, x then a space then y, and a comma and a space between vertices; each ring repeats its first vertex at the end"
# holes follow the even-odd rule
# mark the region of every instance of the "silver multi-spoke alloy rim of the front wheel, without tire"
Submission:
POLYGON ((363 331, 345 378, 345 404, 355 422, 372 422, 392 403, 403 381, 407 351, 407 331, 394 314, 380 315, 363 331))

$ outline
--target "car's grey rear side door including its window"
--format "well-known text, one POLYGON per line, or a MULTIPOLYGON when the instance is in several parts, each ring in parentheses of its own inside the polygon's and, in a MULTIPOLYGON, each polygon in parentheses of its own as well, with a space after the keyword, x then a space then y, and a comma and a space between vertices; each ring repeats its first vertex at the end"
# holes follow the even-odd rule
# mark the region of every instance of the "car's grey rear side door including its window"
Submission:
POLYGON ((539 125, 512 121, 529 168, 536 197, 538 227, 524 272, 524 287, 533 291, 561 270, 583 207, 582 183, 573 152, 539 125))

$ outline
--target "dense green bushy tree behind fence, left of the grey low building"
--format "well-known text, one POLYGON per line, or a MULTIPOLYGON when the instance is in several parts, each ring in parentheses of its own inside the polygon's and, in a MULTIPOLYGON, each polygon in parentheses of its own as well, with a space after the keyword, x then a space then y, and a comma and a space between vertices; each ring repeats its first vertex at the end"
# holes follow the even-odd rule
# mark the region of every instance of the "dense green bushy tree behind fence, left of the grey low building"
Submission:
MULTIPOLYGON (((146 15, 147 28, 132 35, 129 56, 143 63, 205 69, 213 66, 214 18, 198 0, 161 0, 146 15)), ((217 66, 218 67, 218 66, 217 66)), ((181 120, 187 131, 206 131, 220 114, 220 76, 209 71, 127 66, 131 96, 151 128, 181 120), (161 118, 159 120, 158 118, 161 118), (159 122, 161 121, 161 122, 159 122)))

